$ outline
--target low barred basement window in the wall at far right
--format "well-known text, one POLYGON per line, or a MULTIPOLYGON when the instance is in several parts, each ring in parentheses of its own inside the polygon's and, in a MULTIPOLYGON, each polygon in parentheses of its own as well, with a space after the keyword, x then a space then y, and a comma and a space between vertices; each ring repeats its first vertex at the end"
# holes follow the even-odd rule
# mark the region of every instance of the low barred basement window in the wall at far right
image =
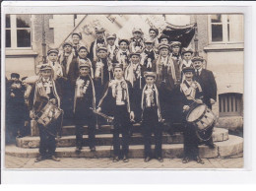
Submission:
POLYGON ((242 113, 242 95, 224 94, 219 96, 220 117, 240 116, 242 113))

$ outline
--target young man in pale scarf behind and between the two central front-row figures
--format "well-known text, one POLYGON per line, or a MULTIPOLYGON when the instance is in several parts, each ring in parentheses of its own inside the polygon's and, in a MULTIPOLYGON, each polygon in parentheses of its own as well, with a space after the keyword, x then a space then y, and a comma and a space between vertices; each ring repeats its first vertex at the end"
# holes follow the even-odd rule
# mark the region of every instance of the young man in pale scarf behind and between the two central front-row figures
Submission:
POLYGON ((132 52, 130 53, 131 62, 127 66, 125 70, 124 78, 129 81, 132 85, 133 93, 134 93, 134 113, 136 122, 140 122, 141 120, 141 95, 142 90, 145 85, 145 79, 143 78, 143 73, 146 71, 145 66, 141 65, 141 52, 132 52))

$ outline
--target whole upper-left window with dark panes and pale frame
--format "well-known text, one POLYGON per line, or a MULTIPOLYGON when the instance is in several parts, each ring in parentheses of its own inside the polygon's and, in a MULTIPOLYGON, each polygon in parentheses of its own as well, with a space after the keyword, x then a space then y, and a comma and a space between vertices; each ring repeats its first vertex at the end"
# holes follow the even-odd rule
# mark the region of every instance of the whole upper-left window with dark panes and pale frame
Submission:
POLYGON ((12 49, 32 47, 31 15, 6 15, 6 47, 12 49))

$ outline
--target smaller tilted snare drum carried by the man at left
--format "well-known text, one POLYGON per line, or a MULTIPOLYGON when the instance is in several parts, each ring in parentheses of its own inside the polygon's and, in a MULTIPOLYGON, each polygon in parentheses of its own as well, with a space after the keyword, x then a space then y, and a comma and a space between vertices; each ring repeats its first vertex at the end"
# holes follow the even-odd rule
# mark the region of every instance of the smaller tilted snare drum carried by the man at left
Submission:
POLYGON ((57 120, 62 113, 62 109, 57 107, 55 104, 48 102, 36 115, 37 123, 46 127, 54 120, 57 120))

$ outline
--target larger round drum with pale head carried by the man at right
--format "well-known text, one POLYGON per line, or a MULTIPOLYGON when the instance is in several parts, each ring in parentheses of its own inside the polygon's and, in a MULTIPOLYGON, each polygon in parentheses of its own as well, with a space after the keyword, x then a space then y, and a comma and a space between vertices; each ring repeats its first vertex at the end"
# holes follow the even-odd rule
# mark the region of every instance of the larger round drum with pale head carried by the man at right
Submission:
POLYGON ((190 106, 186 121, 196 127, 196 134, 201 141, 208 141, 216 123, 213 111, 204 103, 194 103, 190 106))

